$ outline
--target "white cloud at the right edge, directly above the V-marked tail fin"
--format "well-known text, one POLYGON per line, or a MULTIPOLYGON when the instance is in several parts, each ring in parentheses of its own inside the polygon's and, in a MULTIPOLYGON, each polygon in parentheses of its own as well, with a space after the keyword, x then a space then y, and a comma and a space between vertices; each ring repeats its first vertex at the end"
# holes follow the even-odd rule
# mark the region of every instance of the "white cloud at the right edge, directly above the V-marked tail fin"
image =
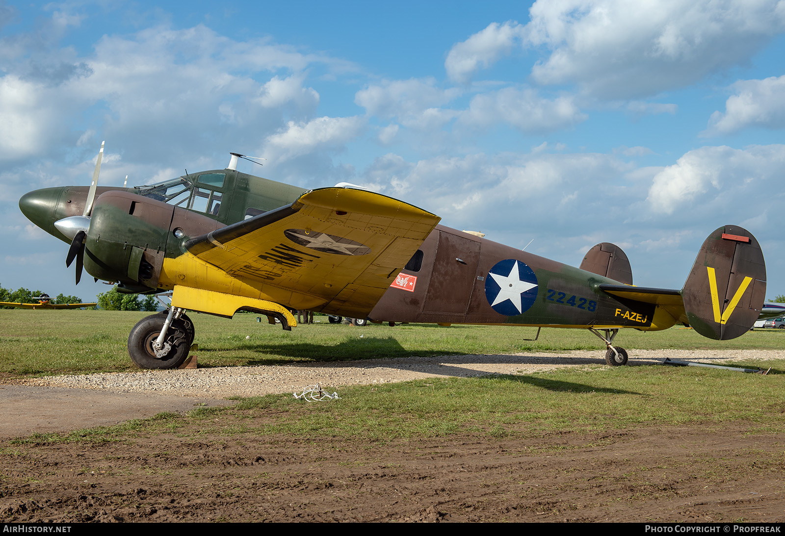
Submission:
POLYGON ((731 87, 736 94, 725 101, 725 113, 715 111, 711 115, 704 136, 734 133, 750 126, 785 126, 785 75, 742 80, 731 87))

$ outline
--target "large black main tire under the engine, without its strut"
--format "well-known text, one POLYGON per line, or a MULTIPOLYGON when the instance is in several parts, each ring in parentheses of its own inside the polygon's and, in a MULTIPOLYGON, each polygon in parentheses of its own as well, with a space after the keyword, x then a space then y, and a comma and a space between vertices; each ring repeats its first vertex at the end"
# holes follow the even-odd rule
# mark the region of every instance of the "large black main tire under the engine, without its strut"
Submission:
POLYGON ((188 317, 186 319, 172 321, 166 334, 166 342, 171 348, 162 359, 155 356, 152 343, 161 333, 166 315, 150 315, 141 319, 128 336, 128 354, 133 363, 142 369, 172 369, 180 366, 188 357, 193 342, 193 324, 188 317))

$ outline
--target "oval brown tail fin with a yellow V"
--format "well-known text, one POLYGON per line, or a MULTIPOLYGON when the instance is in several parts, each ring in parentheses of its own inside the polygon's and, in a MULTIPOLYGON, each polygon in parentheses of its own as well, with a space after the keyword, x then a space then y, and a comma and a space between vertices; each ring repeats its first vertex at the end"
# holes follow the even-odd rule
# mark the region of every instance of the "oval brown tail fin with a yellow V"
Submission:
POLYGON ((703 337, 728 340, 750 330, 766 293, 766 266, 758 240, 736 225, 703 242, 681 290, 690 326, 703 337))

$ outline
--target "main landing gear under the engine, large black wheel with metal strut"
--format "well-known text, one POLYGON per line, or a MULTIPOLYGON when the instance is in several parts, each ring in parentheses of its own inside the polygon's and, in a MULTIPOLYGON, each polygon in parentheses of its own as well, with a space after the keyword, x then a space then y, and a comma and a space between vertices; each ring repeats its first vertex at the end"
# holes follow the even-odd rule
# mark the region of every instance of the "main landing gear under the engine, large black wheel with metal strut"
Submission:
POLYGON ((194 341, 194 325, 185 309, 145 316, 128 336, 128 353, 143 369, 173 369, 188 358, 194 341))

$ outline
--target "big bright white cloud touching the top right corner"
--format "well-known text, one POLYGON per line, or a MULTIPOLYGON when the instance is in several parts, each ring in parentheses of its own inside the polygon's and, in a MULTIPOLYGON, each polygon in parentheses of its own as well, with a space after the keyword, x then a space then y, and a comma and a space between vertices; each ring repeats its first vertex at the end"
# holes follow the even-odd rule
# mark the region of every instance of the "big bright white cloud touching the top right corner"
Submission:
POLYGON ((599 97, 638 97, 696 82, 746 61, 785 29, 777 0, 535 2, 526 46, 550 55, 541 84, 579 83, 599 97))

